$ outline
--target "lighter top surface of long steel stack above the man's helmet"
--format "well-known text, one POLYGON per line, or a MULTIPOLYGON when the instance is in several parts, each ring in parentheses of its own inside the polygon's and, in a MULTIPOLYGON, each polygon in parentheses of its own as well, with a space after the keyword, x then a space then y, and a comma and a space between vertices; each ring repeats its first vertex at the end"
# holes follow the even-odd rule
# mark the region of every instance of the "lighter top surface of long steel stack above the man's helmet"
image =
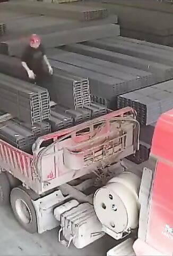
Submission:
POLYGON ((83 21, 50 17, 27 17, 19 19, 17 21, 6 22, 7 34, 5 39, 15 39, 19 36, 29 36, 30 34, 36 33, 39 35, 45 35, 54 33, 57 31, 71 30, 75 28, 83 28, 90 26, 115 24, 117 23, 116 15, 110 15, 109 17, 102 20, 83 21))

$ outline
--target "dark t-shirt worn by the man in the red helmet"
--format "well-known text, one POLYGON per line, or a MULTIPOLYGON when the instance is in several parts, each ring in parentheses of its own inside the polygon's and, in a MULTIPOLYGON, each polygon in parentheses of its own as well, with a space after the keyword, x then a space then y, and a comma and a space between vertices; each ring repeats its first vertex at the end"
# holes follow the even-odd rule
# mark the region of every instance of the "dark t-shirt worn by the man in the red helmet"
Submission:
POLYGON ((21 61, 26 62, 27 66, 34 73, 38 73, 42 68, 44 55, 45 55, 45 49, 41 44, 37 49, 34 49, 29 45, 23 52, 21 61))

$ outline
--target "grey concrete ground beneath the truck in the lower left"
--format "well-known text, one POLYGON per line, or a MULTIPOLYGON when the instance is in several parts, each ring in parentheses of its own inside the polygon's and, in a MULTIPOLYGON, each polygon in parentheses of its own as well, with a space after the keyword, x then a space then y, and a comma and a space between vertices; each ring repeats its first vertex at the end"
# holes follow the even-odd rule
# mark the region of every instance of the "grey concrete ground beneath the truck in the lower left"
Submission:
POLYGON ((69 249, 58 243, 57 229, 31 235, 15 221, 10 208, 0 207, 0 256, 106 256, 116 241, 104 236, 82 250, 73 244, 69 249))

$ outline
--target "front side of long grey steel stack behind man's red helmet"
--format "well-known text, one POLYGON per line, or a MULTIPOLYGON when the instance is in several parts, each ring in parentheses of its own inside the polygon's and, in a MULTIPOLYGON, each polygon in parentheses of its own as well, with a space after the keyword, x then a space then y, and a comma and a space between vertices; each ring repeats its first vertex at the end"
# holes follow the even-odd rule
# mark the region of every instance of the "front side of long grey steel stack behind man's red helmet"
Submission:
MULTIPOLYGON (((42 44, 45 48, 57 47, 76 42, 84 42, 92 39, 99 39, 111 35, 119 35, 119 26, 108 24, 103 26, 91 26, 41 35, 42 44)), ((20 57, 25 43, 19 39, 1 42, 0 53, 20 57)))

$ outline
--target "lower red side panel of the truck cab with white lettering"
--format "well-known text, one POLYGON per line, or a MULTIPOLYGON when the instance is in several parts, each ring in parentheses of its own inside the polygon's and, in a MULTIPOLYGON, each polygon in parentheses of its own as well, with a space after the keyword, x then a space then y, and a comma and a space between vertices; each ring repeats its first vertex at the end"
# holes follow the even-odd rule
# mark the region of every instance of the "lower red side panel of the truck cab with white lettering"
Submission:
POLYGON ((146 243, 163 255, 173 255, 173 167, 158 162, 154 179, 146 243))

